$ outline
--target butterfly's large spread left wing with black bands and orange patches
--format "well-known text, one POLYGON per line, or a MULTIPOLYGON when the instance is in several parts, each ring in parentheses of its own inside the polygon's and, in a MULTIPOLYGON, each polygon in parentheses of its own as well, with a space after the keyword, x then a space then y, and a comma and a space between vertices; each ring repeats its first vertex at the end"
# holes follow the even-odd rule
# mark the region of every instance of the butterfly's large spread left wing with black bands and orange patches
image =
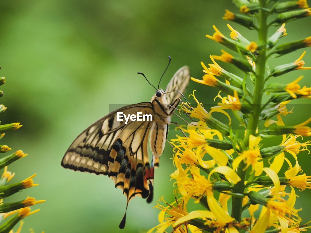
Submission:
POLYGON ((75 171, 108 175, 123 190, 128 202, 136 195, 147 198, 150 165, 147 142, 151 121, 117 121, 123 114, 153 115, 150 102, 120 108, 84 130, 70 145, 62 166, 75 171))

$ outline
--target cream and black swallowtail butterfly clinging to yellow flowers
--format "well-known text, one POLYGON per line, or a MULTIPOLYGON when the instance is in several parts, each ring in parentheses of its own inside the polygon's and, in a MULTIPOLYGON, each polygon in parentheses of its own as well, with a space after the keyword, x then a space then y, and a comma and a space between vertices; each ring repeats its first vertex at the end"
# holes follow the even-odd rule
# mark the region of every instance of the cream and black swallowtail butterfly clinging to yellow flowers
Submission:
MULTIPOLYGON (((170 63, 169 57, 169 63, 170 63)), ((169 63, 165 69, 167 70, 169 63)), ((165 74, 165 71, 163 75, 165 74)), ((142 73, 138 73, 146 76, 142 73)), ((163 77, 160 78, 160 81, 163 77)), ((156 89, 150 102, 128 105, 109 113, 84 130, 70 145, 61 165, 74 171, 108 175, 120 188, 128 202, 136 197, 153 198, 154 169, 159 166, 171 116, 179 103, 190 79, 188 66, 181 67, 172 77, 165 90, 156 89), (152 120, 126 122, 120 114, 151 115, 152 120), (148 139, 152 151, 148 155, 148 139)), ((126 212, 119 225, 125 226, 126 212)))

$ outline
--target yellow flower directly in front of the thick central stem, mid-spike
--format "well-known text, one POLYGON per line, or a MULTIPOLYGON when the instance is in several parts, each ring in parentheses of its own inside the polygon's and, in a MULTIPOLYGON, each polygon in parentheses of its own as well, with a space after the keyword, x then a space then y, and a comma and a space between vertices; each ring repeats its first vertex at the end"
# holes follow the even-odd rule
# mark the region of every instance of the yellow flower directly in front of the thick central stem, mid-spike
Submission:
POLYGON ((235 170, 241 161, 244 161, 246 166, 243 170, 246 170, 249 166, 252 166, 252 170, 255 170, 255 165, 258 160, 261 158, 260 150, 258 147, 259 142, 261 141, 261 137, 255 137, 253 135, 249 135, 249 145, 248 150, 239 153, 239 156, 236 157, 232 163, 232 167, 235 170))

